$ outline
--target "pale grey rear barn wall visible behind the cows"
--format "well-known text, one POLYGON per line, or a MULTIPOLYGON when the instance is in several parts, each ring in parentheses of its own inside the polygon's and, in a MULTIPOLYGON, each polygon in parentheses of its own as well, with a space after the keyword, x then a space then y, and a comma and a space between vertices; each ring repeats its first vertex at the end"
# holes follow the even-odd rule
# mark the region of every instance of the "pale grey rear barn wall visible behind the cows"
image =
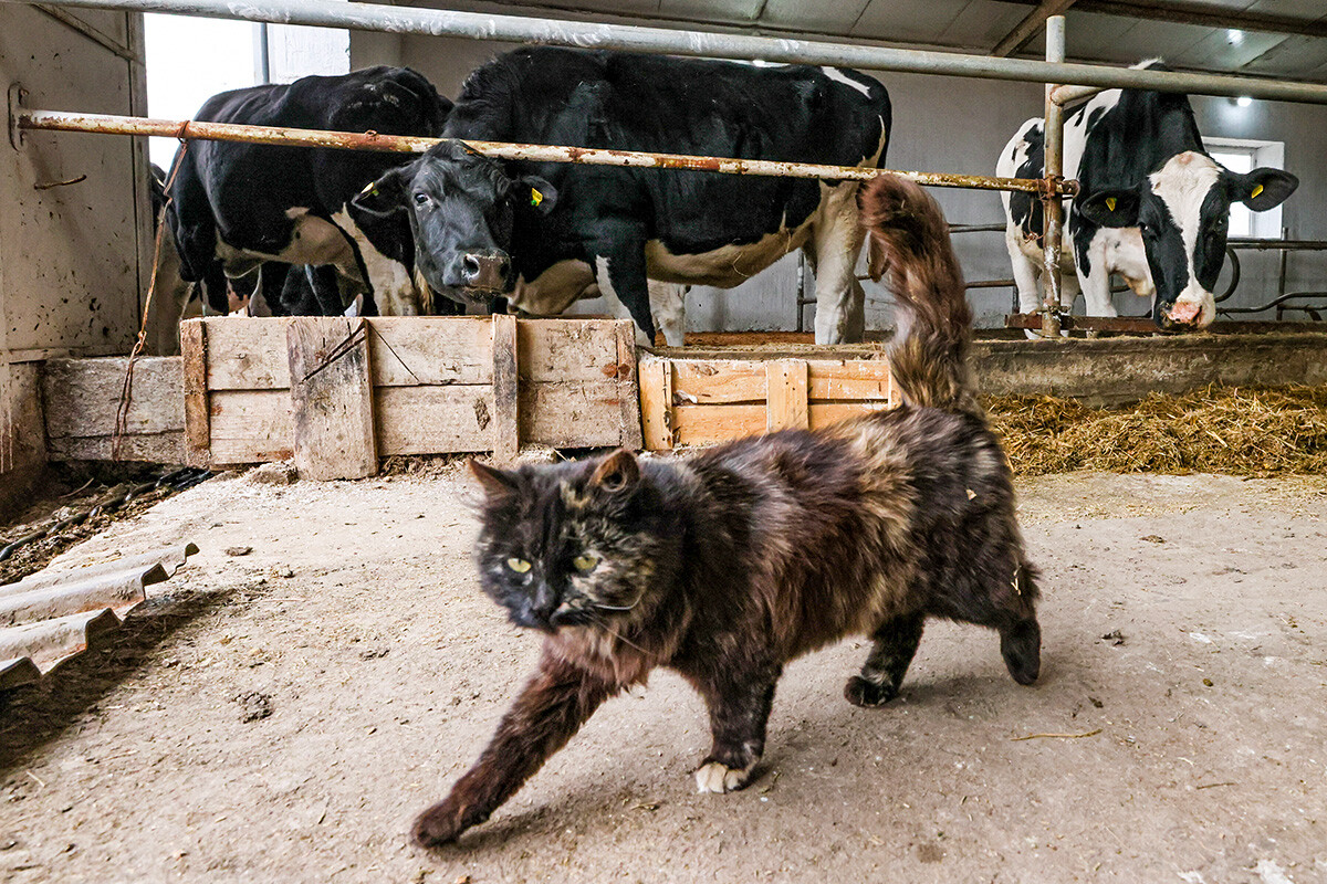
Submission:
MULTIPOLYGON (((458 38, 354 33, 350 58, 357 68, 410 65, 431 78, 442 93, 454 97, 470 70, 510 48, 458 38)), ((994 174, 995 158, 1013 133, 1024 119, 1042 113, 1042 87, 1034 83, 890 73, 877 77, 888 86, 894 105, 894 131, 886 158, 890 168, 994 174)), ((1208 135, 1286 142, 1287 168, 1298 174, 1303 184, 1286 204, 1283 224, 1294 237, 1327 239, 1327 213, 1319 208, 1327 196, 1327 166, 1314 156, 1315 146, 1327 139, 1327 109, 1270 102, 1241 109, 1229 99, 1204 98, 1196 98, 1194 107, 1208 135)), ((1002 221, 997 192, 942 188, 934 192, 954 224, 1002 221)), ((961 235, 957 247, 969 280, 1010 278, 1001 233, 961 235)), ((1270 300, 1275 289, 1275 265, 1273 253, 1243 253, 1243 282, 1230 304, 1270 300)), ((1327 288, 1315 282, 1327 270, 1327 257, 1300 253, 1290 258, 1290 269, 1291 290, 1295 286, 1327 288)), ((1225 278, 1221 288, 1223 285, 1225 278)), ((686 301, 687 327, 694 331, 792 329, 796 323, 795 288, 796 264, 788 257, 736 289, 693 289, 686 301)), ((1013 306, 1013 289, 974 290, 971 297, 981 325, 1003 325, 1003 315, 1013 306)), ((1148 313, 1148 305, 1135 296, 1116 297, 1121 314, 1148 313)), ((888 296, 868 282, 867 298, 868 327, 889 327, 888 296)), ((602 309, 598 302, 584 302, 579 311, 602 309)), ((811 318, 808 307, 805 329, 811 327, 811 318)), ((1270 314, 1251 318, 1270 318, 1270 314)))

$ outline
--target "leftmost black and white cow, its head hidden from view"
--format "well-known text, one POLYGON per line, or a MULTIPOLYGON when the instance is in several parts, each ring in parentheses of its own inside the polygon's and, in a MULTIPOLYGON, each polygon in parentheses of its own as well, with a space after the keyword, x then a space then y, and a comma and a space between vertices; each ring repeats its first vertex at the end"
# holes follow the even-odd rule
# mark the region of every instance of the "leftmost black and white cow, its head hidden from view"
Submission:
MULTIPOLYGON (((366 68, 222 93, 195 119, 438 135, 449 110, 451 102, 414 70, 366 68)), ((252 280, 264 261, 336 268, 342 306, 324 313, 340 313, 356 294, 364 296, 365 313, 427 310, 405 220, 349 205, 365 184, 407 162, 406 155, 211 140, 182 150, 171 231, 183 277, 203 282, 215 310, 226 310, 226 278, 252 280)))

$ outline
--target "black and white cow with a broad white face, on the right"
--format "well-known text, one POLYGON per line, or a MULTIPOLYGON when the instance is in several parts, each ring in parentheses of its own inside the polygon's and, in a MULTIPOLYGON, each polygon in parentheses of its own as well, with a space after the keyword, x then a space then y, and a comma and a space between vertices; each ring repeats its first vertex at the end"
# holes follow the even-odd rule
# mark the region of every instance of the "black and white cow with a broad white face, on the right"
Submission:
MULTIPOLYGON (((1030 119, 1005 146, 997 175, 1040 178, 1043 164, 1043 123, 1030 119)), ((1153 298, 1162 329, 1202 329, 1216 318, 1212 289, 1225 262, 1230 204, 1262 212, 1299 184, 1277 168, 1242 175, 1222 167, 1204 150, 1186 95, 1136 89, 1097 93, 1066 115, 1064 175, 1082 190, 1068 203, 1062 307, 1082 290, 1089 315, 1116 315, 1115 272, 1153 298)), ((1031 313, 1042 304, 1042 204, 1031 193, 1002 199, 1019 307, 1031 313)))

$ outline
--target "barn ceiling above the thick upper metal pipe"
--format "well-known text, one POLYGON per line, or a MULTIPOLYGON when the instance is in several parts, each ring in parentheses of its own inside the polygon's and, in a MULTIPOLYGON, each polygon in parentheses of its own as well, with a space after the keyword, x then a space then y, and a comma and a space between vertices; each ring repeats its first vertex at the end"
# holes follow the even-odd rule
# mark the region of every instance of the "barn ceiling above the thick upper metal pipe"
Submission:
POLYGON ((1071 61, 1132 64, 1164 57, 1180 69, 1327 82, 1323 0, 495 0, 482 5, 1024 57, 1042 53, 1043 32, 1032 25, 1055 7, 1067 8, 1071 61), (1020 28, 1030 16, 1032 21, 1020 28))

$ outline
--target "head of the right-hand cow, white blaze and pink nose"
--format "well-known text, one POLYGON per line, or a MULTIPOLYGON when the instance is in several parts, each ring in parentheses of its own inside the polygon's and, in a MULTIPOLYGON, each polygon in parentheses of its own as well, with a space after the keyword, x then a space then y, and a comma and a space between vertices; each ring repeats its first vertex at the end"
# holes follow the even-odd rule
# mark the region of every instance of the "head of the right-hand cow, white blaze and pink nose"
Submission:
POLYGON ((1162 329, 1212 325, 1212 294, 1226 260, 1230 204, 1263 212, 1295 192, 1279 168, 1231 172, 1206 154, 1176 154, 1137 188, 1097 191, 1078 204, 1100 227, 1137 228, 1156 285, 1152 318, 1162 329))

